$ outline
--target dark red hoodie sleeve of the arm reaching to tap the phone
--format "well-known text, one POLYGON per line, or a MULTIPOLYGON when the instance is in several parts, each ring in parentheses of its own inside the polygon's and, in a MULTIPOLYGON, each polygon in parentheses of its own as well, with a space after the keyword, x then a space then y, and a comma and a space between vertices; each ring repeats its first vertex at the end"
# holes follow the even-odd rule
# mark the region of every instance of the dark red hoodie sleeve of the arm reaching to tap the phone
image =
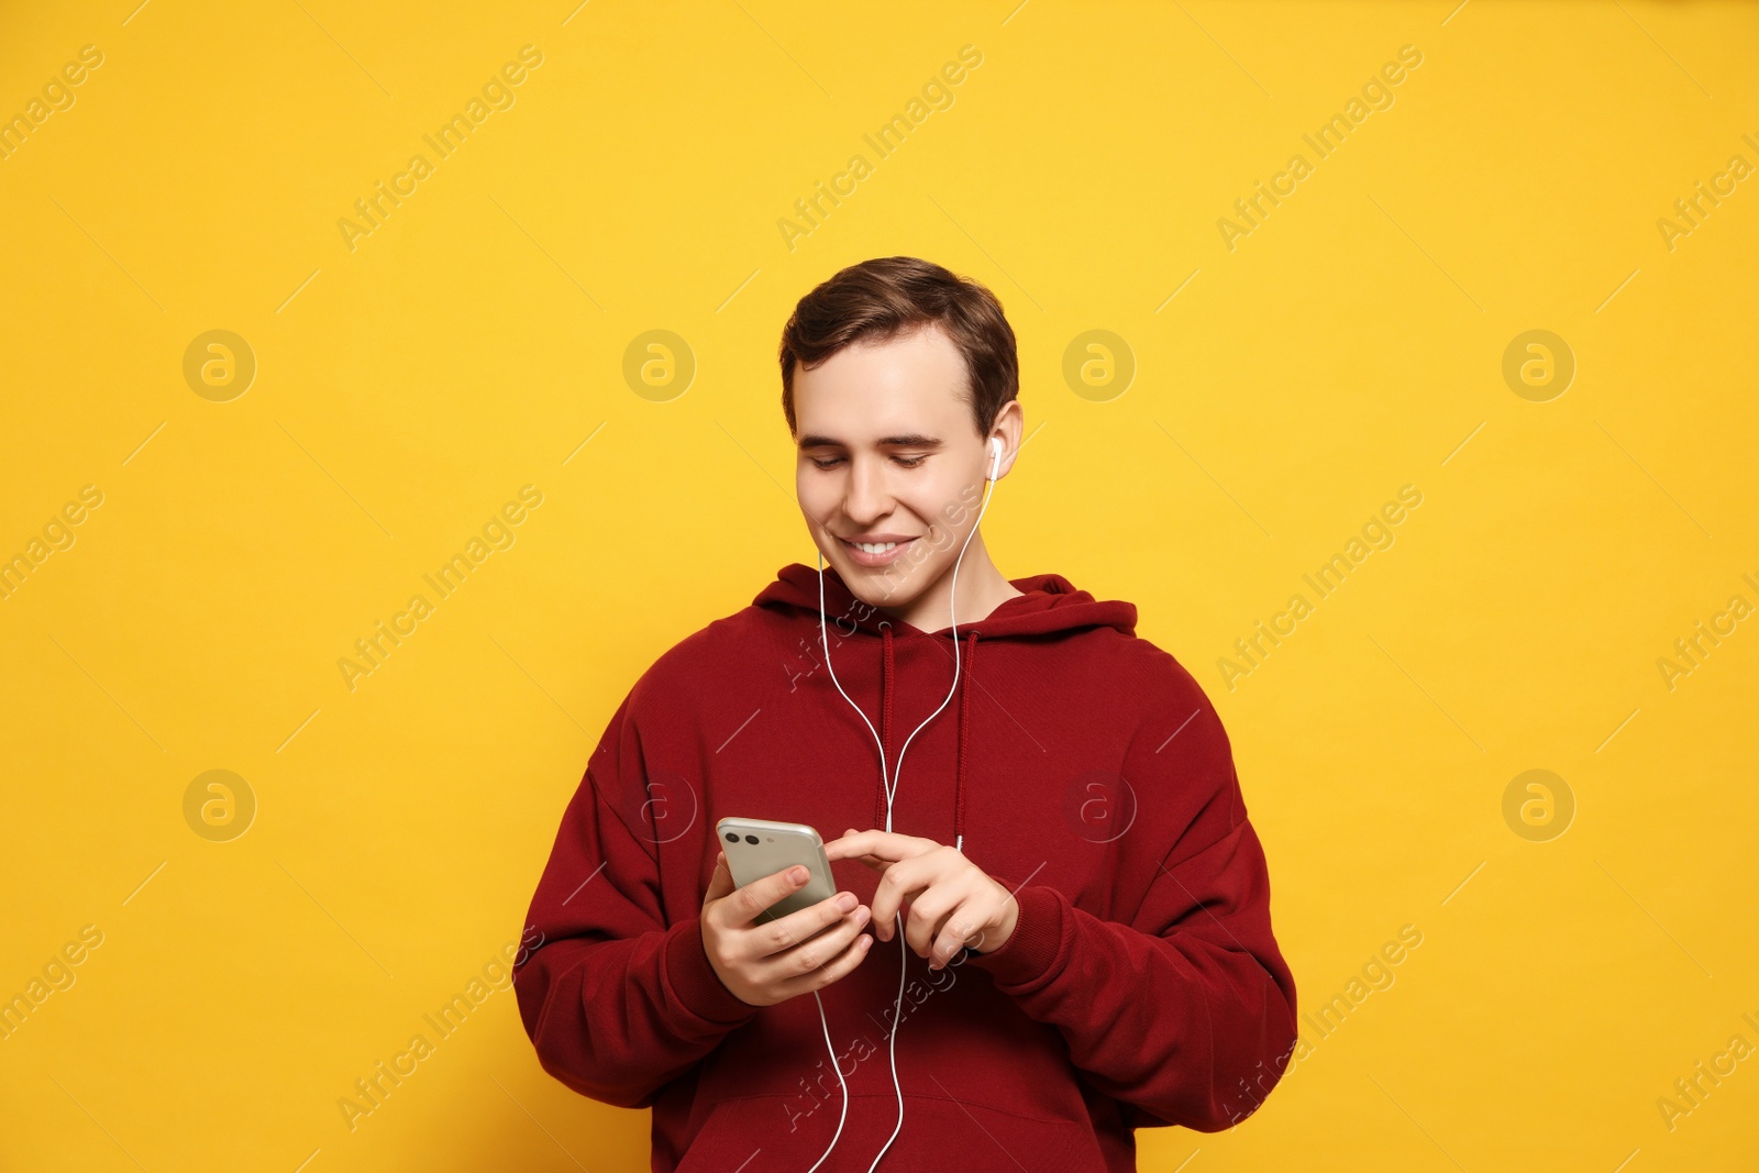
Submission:
MULTIPOLYGON (((1191 689, 1201 698, 1194 681, 1191 689)), ((1282 1076, 1296 1039, 1295 978, 1272 937, 1265 853, 1207 698, 1166 747, 1133 746, 1122 769, 1138 795, 1175 795, 1173 821, 1184 823, 1156 849, 1129 922, 1025 885, 1013 936, 966 964, 987 969, 1027 1016, 1055 1025, 1071 1062, 1133 1106, 1135 1124, 1217 1133, 1256 1111, 1282 1076)), ((1131 834, 1156 823, 1152 834, 1166 835, 1147 807, 1140 820, 1131 834)))

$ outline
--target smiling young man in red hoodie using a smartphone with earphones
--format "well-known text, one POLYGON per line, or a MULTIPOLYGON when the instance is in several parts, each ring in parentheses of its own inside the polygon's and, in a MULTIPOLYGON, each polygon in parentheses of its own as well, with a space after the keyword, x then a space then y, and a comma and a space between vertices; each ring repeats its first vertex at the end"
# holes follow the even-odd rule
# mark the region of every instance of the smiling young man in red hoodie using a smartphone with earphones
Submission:
POLYGON ((515 974, 540 1062, 651 1106, 660 1173, 1122 1173, 1138 1127, 1245 1118, 1296 1039, 1265 856, 1135 605, 1008 580, 974 531, 1022 438, 1001 306, 851 266, 781 375, 828 566, 785 566, 612 716, 515 974), (758 922, 806 869, 735 888, 723 816, 820 828, 844 890, 758 922))

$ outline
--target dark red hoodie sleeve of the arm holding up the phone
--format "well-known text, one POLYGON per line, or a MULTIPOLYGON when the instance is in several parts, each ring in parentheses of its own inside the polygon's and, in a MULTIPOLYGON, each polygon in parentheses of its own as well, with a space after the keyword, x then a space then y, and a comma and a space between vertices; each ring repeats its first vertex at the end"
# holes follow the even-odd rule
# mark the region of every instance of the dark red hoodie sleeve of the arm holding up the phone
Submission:
POLYGON ((544 1069, 619 1108, 653 1104, 758 1011, 721 985, 695 914, 667 923, 663 835, 654 834, 661 795, 644 777, 637 691, 563 814, 514 969, 519 1016, 544 1069))

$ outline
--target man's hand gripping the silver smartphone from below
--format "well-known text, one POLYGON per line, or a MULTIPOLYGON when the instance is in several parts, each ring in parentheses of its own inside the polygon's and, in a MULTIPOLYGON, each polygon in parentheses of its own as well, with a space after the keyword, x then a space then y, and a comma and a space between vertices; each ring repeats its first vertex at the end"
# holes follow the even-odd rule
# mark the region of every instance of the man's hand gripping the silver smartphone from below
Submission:
POLYGON ((756 916, 807 881, 799 863, 744 888, 734 888, 726 853, 714 860, 702 897, 702 948, 734 997, 749 1006, 774 1006, 846 978, 872 944, 862 932, 869 909, 853 892, 839 892, 811 907, 772 922, 756 916))

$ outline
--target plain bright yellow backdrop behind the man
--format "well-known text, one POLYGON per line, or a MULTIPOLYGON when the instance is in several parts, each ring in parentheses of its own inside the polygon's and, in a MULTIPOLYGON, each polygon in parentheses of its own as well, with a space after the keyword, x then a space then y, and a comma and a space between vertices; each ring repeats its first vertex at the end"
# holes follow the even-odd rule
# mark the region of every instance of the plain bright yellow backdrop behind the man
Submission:
POLYGON ((104 55, 0 160, 0 554, 104 494, 0 600, 0 994, 104 934, 0 1041, 0 1166, 646 1168, 646 1113, 545 1076, 508 992, 354 1131, 338 1099, 517 941, 635 677, 813 563, 779 329, 911 253, 1020 338, 997 565, 1135 601, 1215 700, 1302 1009, 1423 934, 1249 1124, 1145 1131, 1142 1168, 1752 1168, 1759 1057, 1673 1129, 1655 1101, 1759 1046, 1759 623, 1673 689, 1657 659, 1759 605, 1759 179, 1671 250, 1657 220, 1759 164, 1759 9, 130 9, 0 18, 7 116, 104 55), (350 251, 336 222, 526 44, 515 104, 350 251), (183 376, 211 329, 259 368, 229 403, 183 376), (623 376, 649 329, 697 362, 665 403, 623 376), (1108 401, 1062 376, 1091 329, 1136 362, 1108 401), (1502 378, 1530 329, 1578 364, 1548 403, 1502 378), (526 484, 515 543, 350 691, 354 640, 526 484), (1405 484, 1395 545, 1230 691, 1233 640, 1405 484), (213 769, 257 800, 230 842, 185 821, 213 769), (1529 769, 1576 804, 1546 842, 1502 816, 1529 769))

